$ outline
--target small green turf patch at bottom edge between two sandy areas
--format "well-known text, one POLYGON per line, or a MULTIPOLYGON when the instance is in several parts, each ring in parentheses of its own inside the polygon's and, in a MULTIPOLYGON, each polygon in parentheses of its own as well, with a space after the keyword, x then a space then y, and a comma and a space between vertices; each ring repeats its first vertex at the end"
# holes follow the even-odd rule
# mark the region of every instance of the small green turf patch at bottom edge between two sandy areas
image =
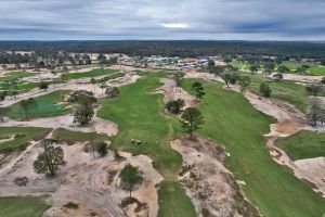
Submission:
POLYGON ((191 200, 178 182, 162 182, 158 188, 159 217, 196 216, 191 200), (177 202, 177 203, 174 203, 177 202))

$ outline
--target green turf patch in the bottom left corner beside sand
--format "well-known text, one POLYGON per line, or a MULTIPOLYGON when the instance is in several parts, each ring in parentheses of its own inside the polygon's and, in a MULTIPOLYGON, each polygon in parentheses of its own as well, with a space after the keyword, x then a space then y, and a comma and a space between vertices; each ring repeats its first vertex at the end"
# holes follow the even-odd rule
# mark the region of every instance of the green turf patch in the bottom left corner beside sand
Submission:
POLYGON ((44 196, 0 197, 0 216, 2 217, 42 217, 49 207, 44 196))

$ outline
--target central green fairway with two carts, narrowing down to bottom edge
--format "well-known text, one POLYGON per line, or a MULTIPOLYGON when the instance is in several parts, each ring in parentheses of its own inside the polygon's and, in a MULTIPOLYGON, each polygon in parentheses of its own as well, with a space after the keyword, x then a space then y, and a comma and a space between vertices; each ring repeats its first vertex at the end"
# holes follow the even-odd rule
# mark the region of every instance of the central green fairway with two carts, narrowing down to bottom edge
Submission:
POLYGON ((98 115, 118 124, 119 133, 112 139, 112 149, 148 155, 165 179, 172 180, 159 187, 158 216, 195 216, 191 200, 176 182, 182 156, 168 143, 180 135, 180 123, 164 114, 162 95, 153 93, 161 86, 159 78, 168 74, 140 74, 144 78, 120 88, 118 99, 103 101, 98 115), (131 143, 131 139, 141 140, 142 144, 131 143))

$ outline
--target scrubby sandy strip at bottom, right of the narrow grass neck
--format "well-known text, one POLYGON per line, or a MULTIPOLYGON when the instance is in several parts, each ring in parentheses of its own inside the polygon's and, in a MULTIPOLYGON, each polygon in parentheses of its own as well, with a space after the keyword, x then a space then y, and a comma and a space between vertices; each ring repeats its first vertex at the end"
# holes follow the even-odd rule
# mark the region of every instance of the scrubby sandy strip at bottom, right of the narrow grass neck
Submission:
POLYGON ((180 139, 170 142, 183 157, 180 179, 195 204, 197 216, 260 216, 243 196, 234 176, 223 166, 223 150, 209 140, 180 139), (242 215, 243 214, 243 215, 242 215))

